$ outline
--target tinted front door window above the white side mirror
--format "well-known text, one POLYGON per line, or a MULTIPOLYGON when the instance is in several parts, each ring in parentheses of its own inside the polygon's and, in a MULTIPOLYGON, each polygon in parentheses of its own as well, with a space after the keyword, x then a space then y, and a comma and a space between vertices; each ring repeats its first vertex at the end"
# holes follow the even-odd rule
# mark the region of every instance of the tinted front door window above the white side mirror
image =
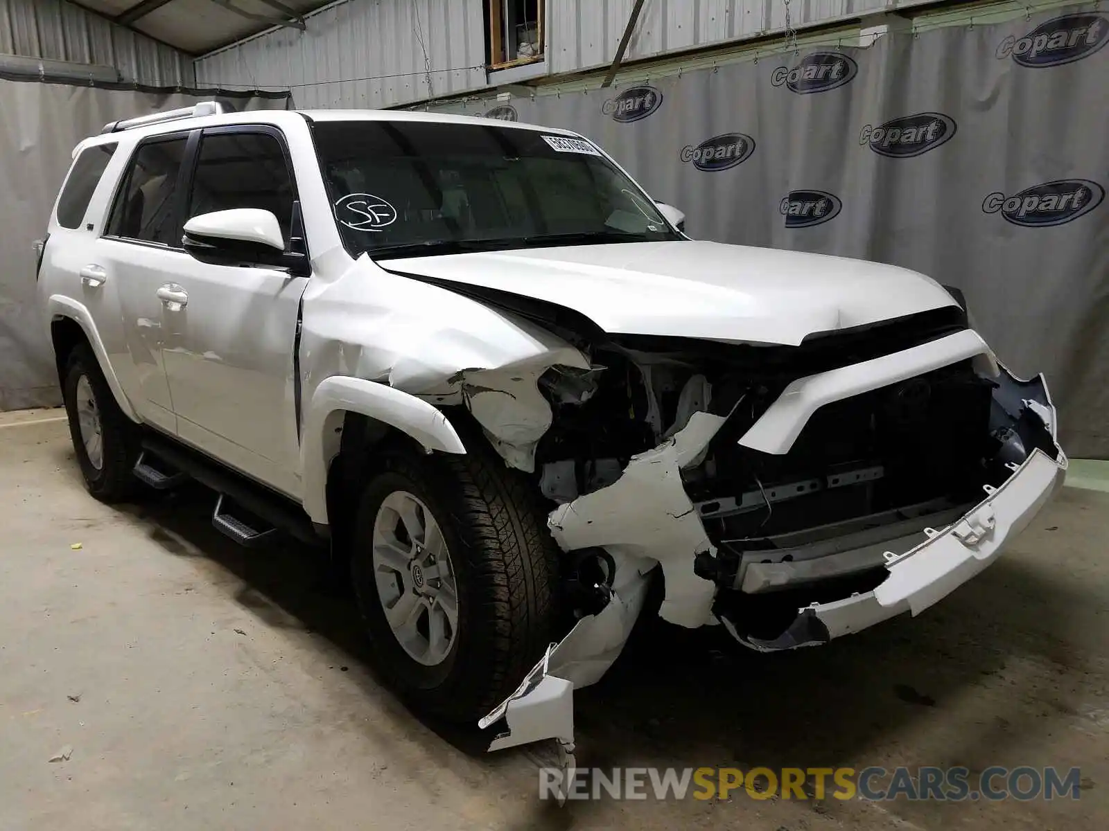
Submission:
POLYGON ((201 140, 187 218, 231 208, 269 211, 287 245, 295 198, 285 154, 274 136, 234 132, 201 140))

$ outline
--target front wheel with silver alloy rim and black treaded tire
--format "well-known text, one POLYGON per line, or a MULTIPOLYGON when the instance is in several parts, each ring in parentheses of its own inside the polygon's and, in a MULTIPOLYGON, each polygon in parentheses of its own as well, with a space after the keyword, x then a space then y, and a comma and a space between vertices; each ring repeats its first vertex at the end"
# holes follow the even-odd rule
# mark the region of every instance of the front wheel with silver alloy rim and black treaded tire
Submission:
POLYGON ((374 663, 424 710, 485 716, 550 643, 557 564, 531 483, 499 458, 386 458, 352 552, 374 663))

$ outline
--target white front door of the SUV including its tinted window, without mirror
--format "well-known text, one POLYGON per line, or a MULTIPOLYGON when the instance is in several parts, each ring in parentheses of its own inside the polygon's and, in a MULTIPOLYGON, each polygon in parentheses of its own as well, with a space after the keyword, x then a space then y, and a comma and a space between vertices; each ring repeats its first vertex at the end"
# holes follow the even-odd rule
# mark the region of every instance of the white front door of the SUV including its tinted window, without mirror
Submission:
MULTIPOLYGON (((286 249, 304 244, 296 182, 276 127, 203 132, 184 217, 231 208, 269 211, 286 249)), ((307 278, 272 266, 206 265, 185 256, 173 279, 185 302, 166 312, 164 355, 179 435, 298 495, 294 352, 307 278)))

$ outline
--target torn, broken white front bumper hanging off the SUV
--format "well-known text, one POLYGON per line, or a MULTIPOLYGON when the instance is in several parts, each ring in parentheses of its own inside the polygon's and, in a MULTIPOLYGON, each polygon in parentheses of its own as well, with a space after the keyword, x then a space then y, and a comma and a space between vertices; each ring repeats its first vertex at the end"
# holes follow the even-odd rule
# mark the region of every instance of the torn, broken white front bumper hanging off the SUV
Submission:
MULTIPOLYGON (((489 749, 554 739, 562 767, 572 768, 573 690, 599 680, 620 655, 642 609, 648 575, 655 565, 661 565, 667 585, 662 617, 689 627, 723 623, 736 640, 757 652, 816 646, 896 615, 918 615, 984 571, 1062 484, 1068 464, 1056 440, 1056 411, 1042 378, 1020 381, 1004 367, 989 363, 987 369, 998 368, 1001 376, 994 393, 990 429, 1011 427, 1017 437, 1015 447, 1032 447, 1031 452, 1018 456, 1022 459, 1019 463, 1006 463, 1008 479, 997 488, 984 485, 986 497, 971 510, 962 515, 937 513, 935 519, 948 524, 925 527, 924 542, 901 553, 883 552, 888 575, 873 591, 803 607, 775 638, 745 635, 726 611, 710 611, 716 586, 693 574, 695 555, 712 553, 714 547, 685 496, 680 471, 703 454, 725 417, 694 413, 667 442, 633 456, 617 482, 559 506, 549 524, 564 550, 597 546, 612 557, 610 599, 598 614, 582 617, 561 642, 548 648, 520 687, 481 719, 482 729, 505 725, 489 749), (1041 439, 1036 439, 1037 434, 1041 439), (1027 440, 1025 445, 1022 440, 1027 440), (629 510, 630 505, 634 510, 629 510)), ((885 545, 896 548, 898 544, 913 545, 918 538, 898 536, 887 538, 885 545)), ((876 542, 865 543, 861 536, 857 547, 840 551, 836 556, 869 556, 864 548, 874 547, 876 542)))

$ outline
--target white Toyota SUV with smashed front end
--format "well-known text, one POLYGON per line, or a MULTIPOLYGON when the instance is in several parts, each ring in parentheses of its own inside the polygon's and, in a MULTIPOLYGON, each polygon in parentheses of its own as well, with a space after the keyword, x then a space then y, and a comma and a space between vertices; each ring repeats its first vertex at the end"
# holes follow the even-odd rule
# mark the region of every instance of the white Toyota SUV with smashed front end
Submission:
POLYGON ((1067 466, 1042 378, 928 277, 680 219, 563 130, 110 124, 37 276, 89 491, 194 479, 232 538, 318 544, 383 674, 491 749, 571 751, 644 606, 791 649, 994 562, 1067 466))

